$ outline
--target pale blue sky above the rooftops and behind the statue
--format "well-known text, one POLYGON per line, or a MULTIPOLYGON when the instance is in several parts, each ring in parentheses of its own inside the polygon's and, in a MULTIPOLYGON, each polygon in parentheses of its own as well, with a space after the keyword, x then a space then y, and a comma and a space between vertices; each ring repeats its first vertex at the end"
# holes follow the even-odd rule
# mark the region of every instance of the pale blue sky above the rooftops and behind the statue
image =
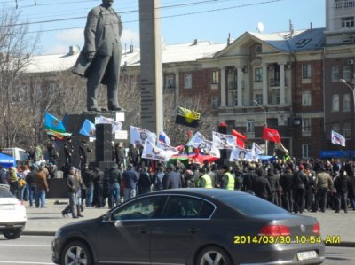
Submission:
MULTIPOLYGON (((146 0, 143 0, 146 1, 146 0)), ((264 33, 325 27, 327 0, 157 0, 162 40, 166 44, 193 43, 194 39, 226 43, 246 31, 264 33)), ((83 47, 83 27, 91 8, 101 0, 0 0, 0 14, 19 12, 28 33, 40 34, 36 54, 64 54, 69 46, 83 47), (16 2, 18 8, 16 9, 16 2)), ((139 1, 114 0, 121 14, 122 47, 139 48, 139 1)))

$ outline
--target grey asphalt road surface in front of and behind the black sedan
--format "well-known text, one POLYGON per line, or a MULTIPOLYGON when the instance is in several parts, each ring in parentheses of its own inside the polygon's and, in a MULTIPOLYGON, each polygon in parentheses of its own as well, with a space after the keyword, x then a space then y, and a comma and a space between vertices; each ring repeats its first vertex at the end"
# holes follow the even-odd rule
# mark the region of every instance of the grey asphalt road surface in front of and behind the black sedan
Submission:
MULTIPOLYGON (((7 240, 0 236, 0 265, 49 265, 51 262, 51 240, 53 237, 22 236, 7 240)), ((355 264, 355 248, 326 248, 325 265, 355 264)))

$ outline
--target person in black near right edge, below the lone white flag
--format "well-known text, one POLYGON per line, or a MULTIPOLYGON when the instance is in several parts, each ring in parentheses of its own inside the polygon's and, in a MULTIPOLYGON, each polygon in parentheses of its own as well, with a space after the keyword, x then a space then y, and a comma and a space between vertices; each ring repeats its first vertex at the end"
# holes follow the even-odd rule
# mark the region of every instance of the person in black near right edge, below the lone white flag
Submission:
POLYGON ((348 188, 351 185, 346 171, 340 169, 339 176, 335 179, 334 187, 336 189, 335 213, 339 213, 343 207, 344 212, 348 213, 348 188))

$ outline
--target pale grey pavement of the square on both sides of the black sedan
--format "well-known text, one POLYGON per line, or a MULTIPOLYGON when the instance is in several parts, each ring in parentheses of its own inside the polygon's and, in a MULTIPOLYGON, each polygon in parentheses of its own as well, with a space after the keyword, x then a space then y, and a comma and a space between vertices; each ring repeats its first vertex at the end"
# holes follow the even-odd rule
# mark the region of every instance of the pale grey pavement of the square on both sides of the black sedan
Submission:
MULTIPOLYGON (((69 217, 63 218, 61 211, 67 207, 68 201, 68 199, 46 199, 47 207, 45 208, 28 207, 28 202, 25 202, 28 222, 23 234, 54 236, 55 232, 67 223, 96 218, 108 211, 108 207, 85 207, 83 218, 73 219, 70 214, 69 217), (62 204, 55 204, 56 201, 62 204)), ((329 244, 329 246, 355 247, 355 211, 350 209, 348 214, 343 212, 335 214, 333 211, 327 210, 326 213, 304 212, 304 215, 317 218, 323 240, 329 237, 340 237, 339 244, 329 244)))

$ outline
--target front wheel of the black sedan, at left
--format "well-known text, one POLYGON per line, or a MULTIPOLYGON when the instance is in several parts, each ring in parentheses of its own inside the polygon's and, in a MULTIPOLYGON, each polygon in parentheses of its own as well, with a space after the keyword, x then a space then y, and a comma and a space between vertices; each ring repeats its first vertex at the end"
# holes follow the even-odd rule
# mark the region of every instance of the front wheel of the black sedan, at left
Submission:
POLYGON ((70 242, 62 253, 61 257, 62 265, 92 265, 91 250, 88 246, 80 241, 70 242))

